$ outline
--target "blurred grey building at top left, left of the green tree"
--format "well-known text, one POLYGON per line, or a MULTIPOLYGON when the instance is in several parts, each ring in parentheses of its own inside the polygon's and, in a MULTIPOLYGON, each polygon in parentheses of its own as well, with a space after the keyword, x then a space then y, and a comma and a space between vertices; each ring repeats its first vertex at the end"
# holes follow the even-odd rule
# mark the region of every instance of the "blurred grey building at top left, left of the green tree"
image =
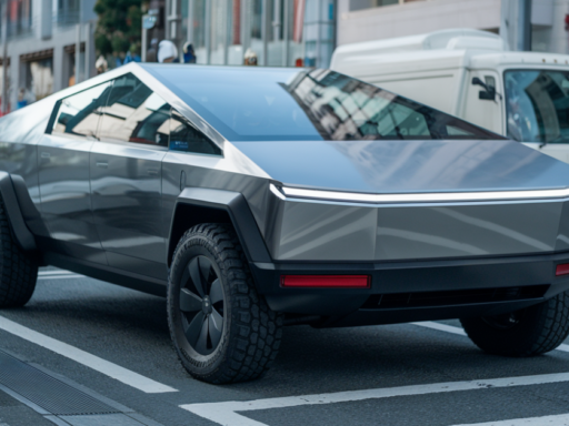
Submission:
POLYGON ((7 45, 0 84, 7 82, 9 110, 93 74, 96 0, 4 1, 0 30, 6 26, 7 45))

